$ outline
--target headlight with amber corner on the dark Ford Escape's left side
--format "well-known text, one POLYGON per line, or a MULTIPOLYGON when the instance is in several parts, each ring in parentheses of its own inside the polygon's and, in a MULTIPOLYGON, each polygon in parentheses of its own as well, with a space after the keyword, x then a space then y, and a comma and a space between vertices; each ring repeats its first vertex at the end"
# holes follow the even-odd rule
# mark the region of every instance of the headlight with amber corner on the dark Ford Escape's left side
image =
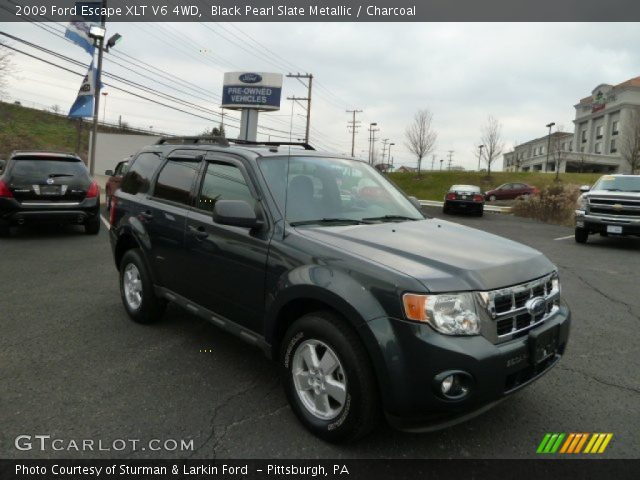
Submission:
POLYGON ((426 322, 445 335, 478 335, 480 320, 472 293, 416 295, 402 297, 409 320, 426 322))

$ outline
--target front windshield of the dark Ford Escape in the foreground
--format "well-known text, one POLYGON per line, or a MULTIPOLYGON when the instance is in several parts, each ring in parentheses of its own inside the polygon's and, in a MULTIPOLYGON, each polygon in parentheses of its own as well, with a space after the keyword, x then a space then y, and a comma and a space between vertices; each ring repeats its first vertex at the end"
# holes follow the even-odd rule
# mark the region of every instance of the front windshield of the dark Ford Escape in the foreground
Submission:
POLYGON ((292 156, 289 161, 287 157, 262 158, 258 164, 281 211, 286 211, 286 219, 293 225, 424 218, 396 187, 364 162, 292 156))

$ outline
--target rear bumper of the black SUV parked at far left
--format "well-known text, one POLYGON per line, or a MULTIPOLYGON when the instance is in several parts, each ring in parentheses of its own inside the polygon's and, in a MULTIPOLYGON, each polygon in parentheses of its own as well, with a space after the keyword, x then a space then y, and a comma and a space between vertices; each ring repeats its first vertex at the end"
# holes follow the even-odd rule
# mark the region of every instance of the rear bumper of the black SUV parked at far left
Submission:
POLYGON ((98 198, 80 202, 19 202, 13 198, 0 199, 0 221, 9 225, 41 223, 84 224, 100 214, 98 198))

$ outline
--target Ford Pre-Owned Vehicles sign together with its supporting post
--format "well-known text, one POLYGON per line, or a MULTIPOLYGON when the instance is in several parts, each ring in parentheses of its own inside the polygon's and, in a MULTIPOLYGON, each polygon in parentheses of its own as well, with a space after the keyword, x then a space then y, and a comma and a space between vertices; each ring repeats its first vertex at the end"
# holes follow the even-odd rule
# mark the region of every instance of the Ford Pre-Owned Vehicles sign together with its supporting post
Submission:
POLYGON ((259 112, 280 110, 282 75, 265 72, 227 72, 222 87, 222 108, 240 110, 241 140, 256 141, 259 112))

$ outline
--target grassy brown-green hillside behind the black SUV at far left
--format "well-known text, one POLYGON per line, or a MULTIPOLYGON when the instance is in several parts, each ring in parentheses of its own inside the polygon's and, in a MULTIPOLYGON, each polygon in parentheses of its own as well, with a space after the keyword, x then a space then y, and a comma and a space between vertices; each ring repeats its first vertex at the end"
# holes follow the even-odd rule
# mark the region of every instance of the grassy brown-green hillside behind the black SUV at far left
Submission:
MULTIPOLYGON (((57 150, 79 153, 86 160, 91 122, 85 119, 79 135, 78 119, 0 102, 0 158, 13 150, 57 150)), ((98 126, 100 132, 138 133, 98 126)))

